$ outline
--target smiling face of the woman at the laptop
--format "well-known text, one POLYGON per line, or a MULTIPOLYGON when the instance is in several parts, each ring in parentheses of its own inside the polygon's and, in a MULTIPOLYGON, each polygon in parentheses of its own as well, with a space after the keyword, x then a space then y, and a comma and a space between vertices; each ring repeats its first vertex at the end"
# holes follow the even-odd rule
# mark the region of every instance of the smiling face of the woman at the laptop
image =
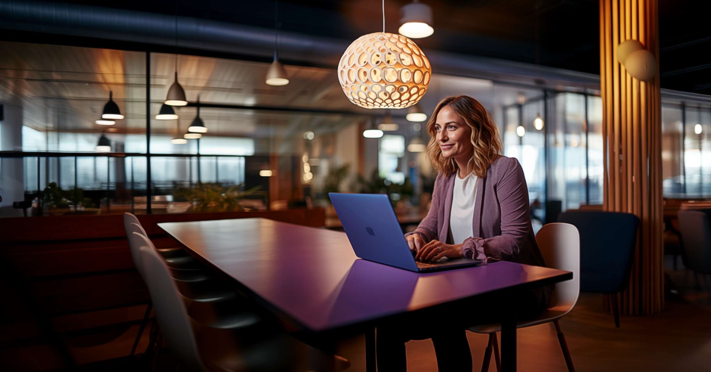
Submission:
POLYGON ((434 124, 437 144, 446 158, 469 159, 474 146, 471 128, 449 106, 442 107, 434 124))

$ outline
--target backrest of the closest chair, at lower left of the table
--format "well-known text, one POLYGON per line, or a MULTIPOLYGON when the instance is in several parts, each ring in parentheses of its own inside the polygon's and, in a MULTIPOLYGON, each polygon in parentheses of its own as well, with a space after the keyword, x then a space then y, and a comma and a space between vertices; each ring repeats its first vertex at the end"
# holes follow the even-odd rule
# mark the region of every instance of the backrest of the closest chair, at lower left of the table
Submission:
POLYGON ((144 280, 151 294, 156 320, 164 339, 173 353, 181 358, 183 363, 188 364, 188 367, 205 371, 188 311, 171 279, 168 267, 151 246, 142 245, 139 252, 143 271, 147 273, 144 280))

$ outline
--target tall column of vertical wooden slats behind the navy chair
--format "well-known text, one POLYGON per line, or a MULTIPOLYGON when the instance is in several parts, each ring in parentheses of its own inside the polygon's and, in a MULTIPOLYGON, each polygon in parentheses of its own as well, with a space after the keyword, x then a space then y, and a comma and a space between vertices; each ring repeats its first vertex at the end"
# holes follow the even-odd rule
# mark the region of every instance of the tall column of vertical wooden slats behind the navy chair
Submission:
POLYGON ((658 56, 658 0, 600 1, 605 211, 640 218, 629 289, 621 311, 653 314, 663 306, 661 100, 659 75, 632 78, 617 61, 619 43, 635 39, 658 56))

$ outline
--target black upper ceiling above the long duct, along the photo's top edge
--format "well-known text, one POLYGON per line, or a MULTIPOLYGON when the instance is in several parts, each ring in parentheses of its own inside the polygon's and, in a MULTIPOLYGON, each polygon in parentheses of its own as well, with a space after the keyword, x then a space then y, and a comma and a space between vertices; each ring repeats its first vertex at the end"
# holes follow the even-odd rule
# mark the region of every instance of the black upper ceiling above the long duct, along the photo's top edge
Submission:
MULTIPOLYGON (((702 57, 711 48, 711 31, 703 26, 707 23, 711 2, 658 1, 662 87, 711 94, 711 64, 702 57)), ((68 2, 95 4, 92 0, 68 2)), ((385 1, 386 31, 397 31, 400 6, 408 2, 385 1)), ((599 0, 423 2, 432 6, 435 30, 432 36, 417 41, 425 50, 538 62, 599 73, 599 0)), ((112 6, 274 27, 274 1, 124 0, 112 6)), ((279 21, 281 28, 287 31, 350 40, 378 31, 382 14, 378 0, 284 0, 279 1, 279 21)))

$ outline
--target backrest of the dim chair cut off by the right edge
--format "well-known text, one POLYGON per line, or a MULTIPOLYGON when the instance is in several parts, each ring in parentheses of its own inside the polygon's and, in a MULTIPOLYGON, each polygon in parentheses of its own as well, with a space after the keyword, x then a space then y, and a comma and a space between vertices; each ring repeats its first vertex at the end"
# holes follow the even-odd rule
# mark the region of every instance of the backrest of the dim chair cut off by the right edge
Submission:
POLYGON ((711 223, 705 211, 679 211, 679 232, 685 265, 695 272, 711 274, 711 223))

